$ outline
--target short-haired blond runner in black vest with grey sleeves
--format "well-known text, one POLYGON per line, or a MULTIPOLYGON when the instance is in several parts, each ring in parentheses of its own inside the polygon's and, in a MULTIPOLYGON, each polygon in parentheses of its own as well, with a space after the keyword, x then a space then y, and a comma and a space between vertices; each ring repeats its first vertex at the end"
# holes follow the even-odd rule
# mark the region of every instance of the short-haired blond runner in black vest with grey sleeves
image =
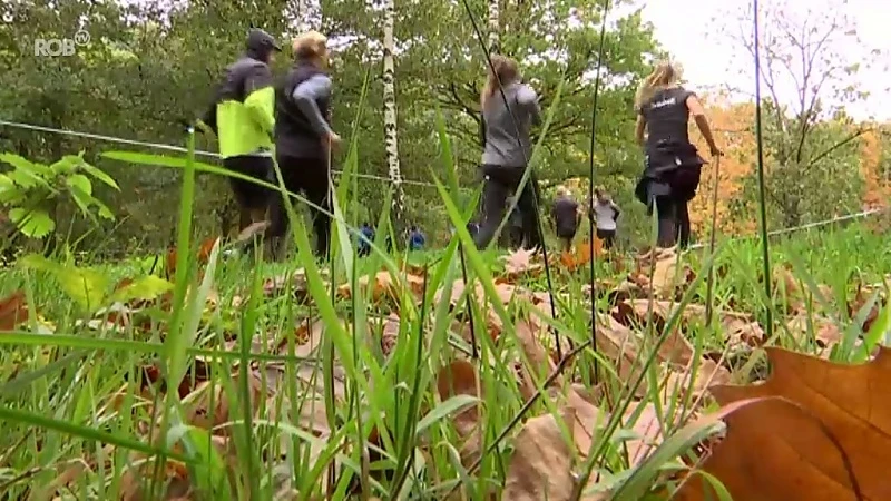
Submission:
MULTIPOLYGON (((331 151, 341 138, 331 129, 327 38, 307 31, 294 39, 294 67, 278 87, 275 148, 285 189, 310 202, 315 253, 326 257, 331 240, 331 151)), ((284 199, 273 210, 270 233, 283 237, 288 219, 284 199)))

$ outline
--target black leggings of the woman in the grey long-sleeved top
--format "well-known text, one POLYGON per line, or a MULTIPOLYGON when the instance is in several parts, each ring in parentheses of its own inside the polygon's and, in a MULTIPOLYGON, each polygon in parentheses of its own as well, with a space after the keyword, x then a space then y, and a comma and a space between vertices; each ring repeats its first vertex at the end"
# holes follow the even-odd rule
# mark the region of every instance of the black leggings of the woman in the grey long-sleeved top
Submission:
MULTIPOLYGON (((486 185, 482 189, 482 225, 480 225, 474 243, 477 247, 482 248, 489 245, 495 237, 498 225, 505 218, 508 196, 517 191, 526 168, 483 164, 480 169, 486 176, 486 185)), ((535 173, 531 173, 517 202, 522 216, 522 235, 526 246, 529 248, 541 247, 537 199, 538 178, 535 173)))

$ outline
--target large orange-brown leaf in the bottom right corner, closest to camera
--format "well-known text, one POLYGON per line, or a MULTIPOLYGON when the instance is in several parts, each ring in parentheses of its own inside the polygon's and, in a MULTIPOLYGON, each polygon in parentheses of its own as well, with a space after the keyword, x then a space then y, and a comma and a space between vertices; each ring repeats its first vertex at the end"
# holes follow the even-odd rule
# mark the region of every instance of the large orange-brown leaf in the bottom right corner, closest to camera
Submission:
MULTIPOLYGON (((727 433, 702 469, 717 477, 734 501, 891 499, 891 405, 884 393, 891 350, 881 347, 862 365, 765 350, 772 366, 767 381, 712 389, 725 406, 727 433)), ((706 483, 691 478, 675 499, 704 500, 706 483)))

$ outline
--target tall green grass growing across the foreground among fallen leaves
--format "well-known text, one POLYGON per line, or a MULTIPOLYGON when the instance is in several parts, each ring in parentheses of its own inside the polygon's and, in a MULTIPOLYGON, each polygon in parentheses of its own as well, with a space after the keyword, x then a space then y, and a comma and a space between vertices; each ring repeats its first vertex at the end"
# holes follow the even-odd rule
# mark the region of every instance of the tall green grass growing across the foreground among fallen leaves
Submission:
MULTIPOLYGON (((454 159, 441 120, 439 131, 447 180, 433 180, 446 216, 456 228, 452 240, 443 249, 420 255, 407 256, 398 249, 388 254, 383 242, 392 235, 393 225, 388 214, 382 214, 372 255, 359 258, 352 233, 358 217, 349 212, 356 206, 353 197, 358 193, 351 174, 360 165, 353 146, 344 176, 334 186, 335 230, 327 263, 313 256, 300 207, 288 202, 294 255, 286 263, 270 264, 257 256, 224 259, 217 245, 208 262, 199 266, 190 227, 196 210, 195 174, 233 174, 196 163, 192 153, 180 159, 108 154, 183 169, 170 303, 131 312, 139 322, 110 327, 105 322, 89 323, 97 315, 107 317, 108 313, 97 312, 109 304, 85 305, 70 281, 68 287, 59 286, 69 275, 98 275, 110 284, 118 278, 138 278, 147 269, 147 263, 139 259, 98 264, 88 273, 58 257, 60 268, 55 272, 21 266, 2 275, 0 291, 25 289, 33 314, 23 331, 0 335, 4 432, 0 438, 0 495, 39 499, 51 494, 47 488, 52 489, 53 482, 70 480, 67 488, 58 485, 58 495, 120 499, 138 484, 144 489, 141 499, 164 499, 184 489, 169 481, 168 464, 174 463, 168 461, 175 461, 187 469, 190 489, 200 499, 263 500, 290 493, 301 500, 323 495, 407 500, 442 499, 449 492, 461 492, 464 499, 483 500, 503 487, 513 438, 526 418, 550 413, 568 439, 559 412, 562 404, 546 390, 548 374, 536 373, 540 377, 533 382, 535 400, 522 396, 513 361, 529 361, 520 348, 517 326, 540 313, 525 302, 505 305, 499 299, 497 253, 478 250, 466 230, 472 204, 462 204, 458 196, 454 159), (420 298, 404 283, 409 261, 425 269, 420 298), (307 301, 294 298, 297 283, 292 279, 281 294, 264 296, 265 279, 292 277, 298 269, 307 301), (374 287, 361 285, 362 277, 381 269, 399 284, 388 302, 375 299, 374 287), (479 282, 482 297, 468 298, 476 295, 476 288, 468 286, 458 301, 439 299, 452 296, 458 279, 479 282), (342 284, 352 291, 349 299, 336 291, 342 284), (486 333, 488 310, 503 326, 497 341, 486 333), (398 321, 388 324, 384 320, 390 313, 396 313, 398 321), (467 315, 476 323, 474 347, 454 328, 467 315), (137 328, 143 320, 148 328, 137 328), (317 330, 306 327, 307 323, 317 330), (47 324, 52 324, 51 334, 46 333, 47 324), (382 343, 385 330, 388 342, 382 343), (306 344, 307 336, 311 344, 306 344), (443 401, 437 391, 438 373, 468 354, 474 355, 479 396, 443 401), (153 364, 166 382, 164 391, 159 384, 144 389, 143 367, 153 364), (176 389, 183 379, 204 382, 187 384, 193 392, 180 399, 176 389), (482 453, 467 463, 461 461, 454 418, 470 407, 480 415, 482 453), (212 426, 195 425, 197 411, 206 412, 203 420, 212 426)), ((351 145, 358 144, 358 134, 353 127, 351 145)), ((187 144, 194 151, 192 134, 187 144)), ((277 186, 270 186, 284 193, 281 176, 277 186)), ((639 376, 630 381, 619 377, 613 363, 590 345, 591 311, 604 315, 609 307, 606 296, 591 299, 582 293, 584 273, 560 271, 555 276, 556 316, 544 315, 541 322, 555 336, 577 346, 574 357, 559 365, 564 380, 594 390, 591 367, 595 363, 605 367, 598 381, 607 396, 598 405, 610 418, 600 423, 593 449, 579 465, 577 473, 582 480, 597 474, 600 487, 611 490, 615 499, 646 499, 668 485, 664 472, 683 468, 678 458, 715 431, 683 428, 694 402, 679 391, 666 401, 657 391, 664 385, 659 381, 664 374, 657 371, 656 354, 679 323, 685 305, 703 303, 708 296, 718 310, 730 307, 758 318, 766 318, 764 312, 772 310, 779 328, 771 344, 816 350, 814 343, 803 343, 801 336, 782 328, 785 298, 782 291, 765 297, 760 286, 765 277, 758 245, 724 240, 714 254, 688 255, 697 278, 660 328, 652 313, 640 327, 647 333, 647 343, 639 376), (713 294, 706 294, 705 277, 713 266, 722 273, 713 294), (643 399, 635 396, 638 387, 647 389, 643 399), (636 418, 629 421, 626 411, 642 404, 655 406, 668 436, 645 462, 631 465, 623 444, 636 418)), ((856 283, 881 282, 883 263, 889 262, 881 236, 860 226, 799 234, 775 244, 772 258, 792 266, 802 287, 822 303, 822 314, 845 333, 833 352, 835 360, 863 360, 871 345, 885 342, 888 308, 860 347, 855 346, 856 325, 864 313, 855 312, 851 318, 846 311, 856 283), (821 297, 817 284, 831 286, 834 297, 821 297)), ((596 265, 604 282, 618 282, 625 274, 610 272, 604 263, 596 265)), ((519 285, 530 291, 546 288, 537 277, 519 285)), ((143 291, 143 295, 150 298, 156 292, 143 291)), ((726 340, 717 323, 688 330, 686 335, 697 355, 725 351, 726 340)), ((748 381, 760 361, 761 351, 750 353, 734 374, 736 380, 748 381)))

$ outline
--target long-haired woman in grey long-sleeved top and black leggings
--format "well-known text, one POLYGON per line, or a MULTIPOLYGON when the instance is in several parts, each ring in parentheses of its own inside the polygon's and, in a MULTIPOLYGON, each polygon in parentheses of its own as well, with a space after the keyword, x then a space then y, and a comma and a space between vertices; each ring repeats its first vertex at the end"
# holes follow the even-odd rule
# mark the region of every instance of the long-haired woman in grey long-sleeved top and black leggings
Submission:
MULTIPOLYGON (((478 247, 489 245, 495 237, 505 217, 508 197, 517 191, 526 173, 532 149, 529 129, 541 121, 538 96, 520 80, 517 61, 500 55, 492 55, 491 61, 495 71, 489 69, 480 94, 484 124, 480 171, 486 185, 482 191, 482 224, 474 238, 478 247)), ((522 217, 523 239, 526 246, 531 248, 542 245, 538 225, 537 183, 532 173, 517 203, 522 217)))

